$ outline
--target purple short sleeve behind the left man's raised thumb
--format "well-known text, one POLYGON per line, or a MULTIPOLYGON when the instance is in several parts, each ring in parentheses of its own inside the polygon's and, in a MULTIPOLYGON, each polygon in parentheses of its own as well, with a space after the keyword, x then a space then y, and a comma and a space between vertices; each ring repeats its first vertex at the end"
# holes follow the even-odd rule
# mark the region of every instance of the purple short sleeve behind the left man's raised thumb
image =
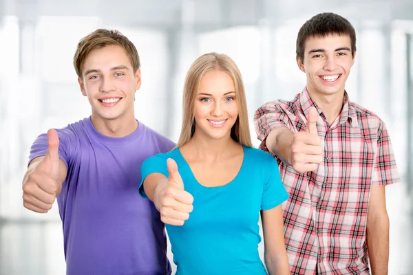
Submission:
MULTIPOLYGON (((59 136, 59 159, 61 159, 66 164, 66 168, 69 169, 67 164, 70 163, 70 137, 67 136, 66 131, 63 129, 56 129, 56 132, 59 136)), ((42 133, 36 138, 36 140, 34 140, 32 146, 30 147, 28 165, 36 157, 46 155, 47 149, 47 133, 42 133)))

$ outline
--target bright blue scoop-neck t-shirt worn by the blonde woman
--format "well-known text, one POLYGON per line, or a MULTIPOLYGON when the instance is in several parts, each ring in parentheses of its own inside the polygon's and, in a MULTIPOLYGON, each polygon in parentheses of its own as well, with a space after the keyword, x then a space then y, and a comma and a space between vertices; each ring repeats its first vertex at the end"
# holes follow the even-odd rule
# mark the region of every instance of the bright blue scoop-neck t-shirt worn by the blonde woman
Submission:
MULTIPOLYGON (((193 196, 193 212, 182 226, 166 225, 177 274, 266 274, 258 252, 260 210, 288 199, 275 159, 243 146, 244 161, 229 184, 202 186, 176 148, 149 157, 142 181, 151 173, 169 176, 167 159, 178 164, 184 189, 193 196)), ((140 183, 140 194, 146 197, 140 183)))

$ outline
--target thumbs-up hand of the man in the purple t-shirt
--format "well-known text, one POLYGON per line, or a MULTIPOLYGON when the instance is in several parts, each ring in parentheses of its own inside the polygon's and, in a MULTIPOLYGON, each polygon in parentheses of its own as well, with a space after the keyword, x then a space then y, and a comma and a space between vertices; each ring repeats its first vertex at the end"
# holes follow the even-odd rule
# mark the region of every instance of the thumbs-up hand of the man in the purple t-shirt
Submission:
POLYGON ((23 184, 23 206, 34 212, 46 213, 59 194, 59 136, 47 131, 47 153, 28 175, 23 184))

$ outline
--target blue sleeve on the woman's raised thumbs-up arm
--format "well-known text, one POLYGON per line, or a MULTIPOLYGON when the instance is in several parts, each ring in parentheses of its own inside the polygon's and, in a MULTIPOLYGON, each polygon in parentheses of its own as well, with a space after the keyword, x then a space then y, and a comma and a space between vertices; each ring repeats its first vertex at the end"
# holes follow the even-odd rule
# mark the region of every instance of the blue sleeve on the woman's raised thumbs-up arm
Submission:
POLYGON ((167 159, 168 157, 165 153, 159 153, 145 159, 142 166, 140 166, 141 181, 139 184, 139 194, 145 199, 147 199, 147 195, 143 189, 143 181, 152 173, 161 173, 165 177, 169 177, 167 159))

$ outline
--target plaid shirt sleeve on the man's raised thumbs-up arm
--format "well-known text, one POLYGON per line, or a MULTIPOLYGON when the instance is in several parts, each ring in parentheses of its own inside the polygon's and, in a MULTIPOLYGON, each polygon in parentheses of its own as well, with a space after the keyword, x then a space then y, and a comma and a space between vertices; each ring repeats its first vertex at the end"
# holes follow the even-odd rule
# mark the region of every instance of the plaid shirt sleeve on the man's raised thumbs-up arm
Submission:
POLYGON ((285 103, 275 100, 262 105, 254 114, 255 133, 258 140, 261 140, 260 149, 268 152, 266 137, 275 128, 287 128, 293 131, 290 119, 284 111, 287 108, 285 103))

